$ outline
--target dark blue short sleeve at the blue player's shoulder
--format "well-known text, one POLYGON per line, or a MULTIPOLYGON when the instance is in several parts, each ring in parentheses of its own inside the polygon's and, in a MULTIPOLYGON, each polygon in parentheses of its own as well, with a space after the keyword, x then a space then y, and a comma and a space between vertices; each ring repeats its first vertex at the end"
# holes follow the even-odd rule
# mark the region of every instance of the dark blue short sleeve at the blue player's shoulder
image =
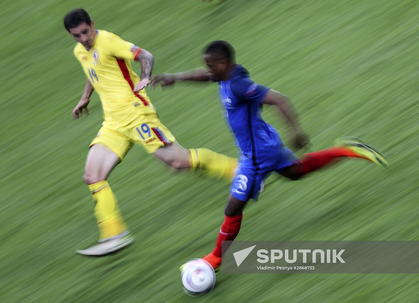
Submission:
POLYGON ((231 92, 240 101, 263 102, 266 92, 271 89, 261 84, 253 82, 250 78, 241 78, 232 81, 230 84, 231 92))

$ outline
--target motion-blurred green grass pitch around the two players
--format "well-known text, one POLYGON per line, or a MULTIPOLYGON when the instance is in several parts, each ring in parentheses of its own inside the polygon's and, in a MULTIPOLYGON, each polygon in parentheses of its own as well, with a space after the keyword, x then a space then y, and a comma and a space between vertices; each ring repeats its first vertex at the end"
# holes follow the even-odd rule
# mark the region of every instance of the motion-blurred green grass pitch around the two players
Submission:
MULTIPOLYGON (((417 1, 21 0, 0 11, 1 302, 417 300, 419 277, 396 274, 221 273, 214 291, 189 298, 178 267, 212 249, 228 185, 173 173, 140 146, 109 178, 135 244, 75 255, 97 239, 81 176, 102 119, 96 94, 89 117, 70 116, 85 76, 62 18, 78 5, 151 51, 155 72, 202 66, 202 48, 228 40, 254 80, 291 97, 313 150, 354 135, 388 156, 388 170, 347 160, 295 183, 271 177, 238 239, 419 240, 417 1)), ((184 147, 236 155, 216 85, 148 93, 184 147)), ((275 110, 264 117, 289 142, 275 110)))

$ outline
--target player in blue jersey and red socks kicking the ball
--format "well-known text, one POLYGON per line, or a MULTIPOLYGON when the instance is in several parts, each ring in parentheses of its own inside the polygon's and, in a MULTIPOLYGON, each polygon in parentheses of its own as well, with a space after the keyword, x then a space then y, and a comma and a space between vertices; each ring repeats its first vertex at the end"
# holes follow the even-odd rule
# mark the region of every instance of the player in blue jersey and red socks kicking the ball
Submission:
MULTIPOLYGON (((326 150, 303 155, 298 159, 284 143, 277 130, 262 119, 263 104, 275 105, 282 112, 294 132, 294 145, 301 148, 308 137, 301 130, 297 115, 288 98, 252 81, 243 66, 235 64, 235 51, 226 41, 214 41, 204 50, 207 69, 194 69, 177 74, 157 74, 152 85, 170 85, 178 80, 215 81, 220 99, 225 106, 228 122, 241 149, 240 167, 231 186, 225 207, 225 219, 214 250, 204 257, 213 268, 221 264, 221 243, 237 236, 243 209, 249 199, 257 199, 264 178, 277 172, 297 180, 311 171, 331 163, 339 157, 357 157, 387 166, 385 157, 375 148, 355 137, 344 137, 326 150)), ((225 247, 224 247, 225 249, 225 247)))

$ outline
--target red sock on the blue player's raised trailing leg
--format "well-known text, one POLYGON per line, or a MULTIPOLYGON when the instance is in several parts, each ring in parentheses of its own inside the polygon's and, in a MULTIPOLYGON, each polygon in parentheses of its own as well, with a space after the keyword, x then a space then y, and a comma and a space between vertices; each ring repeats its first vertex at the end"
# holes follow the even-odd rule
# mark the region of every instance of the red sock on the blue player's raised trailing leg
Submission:
POLYGON ((301 175, 304 175, 331 163, 333 160, 335 160, 335 158, 339 157, 363 158, 360 154, 355 153, 349 148, 332 147, 303 155, 298 170, 301 175))

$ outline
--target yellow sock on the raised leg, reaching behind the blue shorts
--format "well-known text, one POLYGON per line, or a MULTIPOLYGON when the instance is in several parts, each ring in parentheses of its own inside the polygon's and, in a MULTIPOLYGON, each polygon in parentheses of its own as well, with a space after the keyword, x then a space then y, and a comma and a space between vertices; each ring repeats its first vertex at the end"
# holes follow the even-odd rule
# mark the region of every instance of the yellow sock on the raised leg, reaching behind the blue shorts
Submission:
POLYGON ((215 153, 207 148, 191 148, 191 168, 203 170, 206 175, 231 182, 237 167, 237 159, 215 153))

